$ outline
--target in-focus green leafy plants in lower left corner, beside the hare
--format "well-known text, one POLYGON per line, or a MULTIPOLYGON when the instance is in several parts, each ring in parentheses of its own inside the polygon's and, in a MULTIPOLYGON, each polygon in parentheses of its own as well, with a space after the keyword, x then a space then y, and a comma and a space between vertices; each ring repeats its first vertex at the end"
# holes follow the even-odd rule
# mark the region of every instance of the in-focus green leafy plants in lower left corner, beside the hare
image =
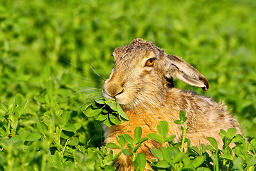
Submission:
POLYGON ((83 120, 58 107, 32 116, 27 105, 1 103, 0 170, 114 170, 117 156, 87 146, 83 120))

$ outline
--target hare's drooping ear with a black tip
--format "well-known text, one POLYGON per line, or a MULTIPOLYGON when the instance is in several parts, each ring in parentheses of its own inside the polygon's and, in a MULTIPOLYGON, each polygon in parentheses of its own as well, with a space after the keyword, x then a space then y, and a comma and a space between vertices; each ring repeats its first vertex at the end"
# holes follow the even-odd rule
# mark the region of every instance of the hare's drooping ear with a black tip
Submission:
POLYGON ((209 88, 207 79, 196 68, 193 68, 178 56, 167 56, 165 74, 167 78, 176 76, 179 80, 191 86, 201 87, 205 91, 209 88))

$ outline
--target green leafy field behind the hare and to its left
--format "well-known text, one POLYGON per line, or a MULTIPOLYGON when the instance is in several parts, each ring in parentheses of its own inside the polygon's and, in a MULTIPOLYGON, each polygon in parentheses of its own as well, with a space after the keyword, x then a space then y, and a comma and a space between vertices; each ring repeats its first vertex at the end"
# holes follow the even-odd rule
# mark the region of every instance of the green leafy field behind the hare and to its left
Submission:
POLYGON ((0 0, 0 170, 113 170, 102 98, 114 48, 153 41, 203 73, 245 137, 256 137, 256 1, 0 0), (103 164, 102 164, 103 163, 103 164))

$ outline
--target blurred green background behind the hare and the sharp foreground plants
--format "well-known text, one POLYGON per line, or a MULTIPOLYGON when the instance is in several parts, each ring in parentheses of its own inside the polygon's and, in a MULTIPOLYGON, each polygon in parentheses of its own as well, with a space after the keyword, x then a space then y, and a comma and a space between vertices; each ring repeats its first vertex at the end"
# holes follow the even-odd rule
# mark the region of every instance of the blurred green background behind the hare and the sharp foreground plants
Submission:
MULTIPOLYGON (((0 101, 29 100, 27 121, 55 106, 75 110, 75 123, 100 98, 102 81, 90 66, 107 78, 114 48, 142 37, 210 83, 206 93, 177 80, 176 87, 223 101, 245 136, 256 137, 255 11, 249 0, 1 0, 0 101)), ((84 128, 85 139, 101 145, 102 133, 92 132, 100 125, 83 122, 93 128, 84 128)))

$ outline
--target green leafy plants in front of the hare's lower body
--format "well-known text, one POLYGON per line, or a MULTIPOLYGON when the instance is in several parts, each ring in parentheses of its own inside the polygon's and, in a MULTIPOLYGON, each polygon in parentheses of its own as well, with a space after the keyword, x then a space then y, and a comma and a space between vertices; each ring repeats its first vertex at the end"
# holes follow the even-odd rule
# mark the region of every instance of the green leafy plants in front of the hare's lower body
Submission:
MULTIPOLYGON (((184 124, 186 116, 183 114, 184 112, 181 111, 180 120, 177 120, 176 123, 184 124)), ((235 128, 230 128, 227 132, 221 130, 220 135, 224 142, 223 150, 218 149, 218 143, 214 138, 208 138, 210 145, 201 144, 200 149, 194 146, 191 147, 189 140, 186 139, 186 142, 188 142, 186 152, 183 152, 183 145, 187 129, 183 129, 183 138, 179 142, 173 142, 175 138, 174 135, 166 138, 169 130, 169 125, 166 121, 161 121, 157 128, 159 134, 151 133, 147 135, 147 137, 157 142, 168 142, 169 145, 164 145, 161 149, 151 148, 150 151, 156 159, 148 162, 153 170, 256 169, 256 138, 248 145, 245 138, 240 134, 236 134, 235 128), (235 147, 231 148, 229 146, 230 143, 235 143, 235 147)), ((134 170, 144 170, 146 165, 145 155, 142 152, 137 153, 137 150, 142 145, 142 142, 147 139, 141 139, 141 135, 142 128, 137 127, 134 131, 134 140, 126 134, 118 135, 117 141, 119 145, 115 145, 111 142, 107 144, 107 147, 122 149, 122 153, 129 156, 132 160, 134 170), (129 149, 124 148, 125 142, 127 142, 129 149), (139 142, 139 144, 134 146, 136 142, 139 142), (130 152, 132 152, 132 154, 130 152)))

